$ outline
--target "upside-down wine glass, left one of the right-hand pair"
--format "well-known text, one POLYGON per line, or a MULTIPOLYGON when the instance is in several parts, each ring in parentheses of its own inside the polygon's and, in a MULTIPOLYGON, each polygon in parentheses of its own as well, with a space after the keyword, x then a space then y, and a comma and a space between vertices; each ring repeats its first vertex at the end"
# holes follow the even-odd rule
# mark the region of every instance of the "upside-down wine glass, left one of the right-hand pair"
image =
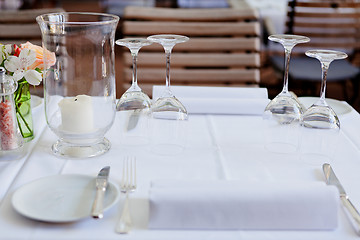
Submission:
POLYGON ((293 47, 310 39, 300 35, 278 34, 269 36, 285 49, 284 85, 282 91, 270 101, 264 111, 266 120, 266 148, 274 152, 294 152, 298 147, 298 123, 303 113, 301 103, 288 90, 290 55, 293 47))

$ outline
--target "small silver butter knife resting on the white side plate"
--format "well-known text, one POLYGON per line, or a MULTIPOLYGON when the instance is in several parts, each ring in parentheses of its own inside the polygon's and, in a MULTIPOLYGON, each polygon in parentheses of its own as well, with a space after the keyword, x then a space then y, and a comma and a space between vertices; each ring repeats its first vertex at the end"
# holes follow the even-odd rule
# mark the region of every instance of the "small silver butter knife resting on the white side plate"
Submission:
POLYGON ((102 218, 103 204, 106 187, 108 185, 108 178, 110 174, 110 167, 106 166, 102 168, 95 179, 96 195, 91 209, 91 216, 93 218, 102 218))

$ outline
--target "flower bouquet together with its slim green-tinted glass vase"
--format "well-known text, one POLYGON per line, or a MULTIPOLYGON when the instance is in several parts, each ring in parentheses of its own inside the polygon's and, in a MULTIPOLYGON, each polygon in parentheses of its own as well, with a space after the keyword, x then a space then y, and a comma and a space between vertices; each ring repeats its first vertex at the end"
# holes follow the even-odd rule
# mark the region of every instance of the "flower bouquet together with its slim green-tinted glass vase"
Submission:
POLYGON ((29 85, 39 85, 45 66, 50 67, 55 62, 55 53, 30 42, 19 46, 0 44, 0 66, 5 68, 5 77, 18 83, 18 88, 14 93, 15 111, 20 132, 25 141, 34 138, 29 85), (44 62, 44 54, 46 62, 44 62))

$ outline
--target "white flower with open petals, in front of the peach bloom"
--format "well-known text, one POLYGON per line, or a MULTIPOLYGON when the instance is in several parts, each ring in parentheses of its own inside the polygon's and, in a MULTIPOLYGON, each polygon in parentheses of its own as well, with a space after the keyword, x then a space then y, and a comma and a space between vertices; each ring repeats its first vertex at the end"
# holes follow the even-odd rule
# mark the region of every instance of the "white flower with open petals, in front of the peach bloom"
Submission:
POLYGON ((36 53, 30 49, 22 49, 19 57, 9 56, 5 59, 4 66, 7 71, 13 73, 13 78, 15 81, 19 81, 23 77, 25 80, 32 85, 39 85, 42 76, 41 73, 36 70, 28 70, 28 67, 31 66, 36 61, 36 53))

